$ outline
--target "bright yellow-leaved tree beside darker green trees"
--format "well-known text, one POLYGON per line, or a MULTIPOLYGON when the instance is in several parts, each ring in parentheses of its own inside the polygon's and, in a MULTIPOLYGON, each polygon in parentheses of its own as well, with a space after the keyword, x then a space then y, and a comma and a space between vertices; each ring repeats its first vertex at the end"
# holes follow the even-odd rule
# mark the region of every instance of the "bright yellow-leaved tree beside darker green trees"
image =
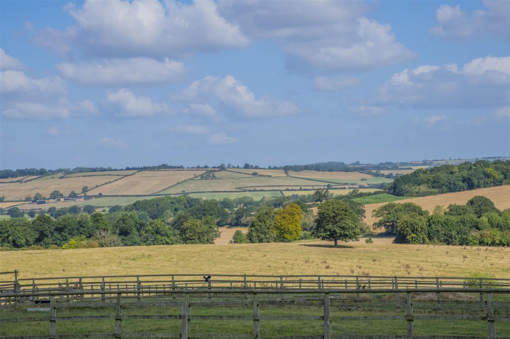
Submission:
POLYGON ((289 204, 276 211, 271 232, 277 241, 289 242, 299 239, 303 210, 297 204, 289 204))

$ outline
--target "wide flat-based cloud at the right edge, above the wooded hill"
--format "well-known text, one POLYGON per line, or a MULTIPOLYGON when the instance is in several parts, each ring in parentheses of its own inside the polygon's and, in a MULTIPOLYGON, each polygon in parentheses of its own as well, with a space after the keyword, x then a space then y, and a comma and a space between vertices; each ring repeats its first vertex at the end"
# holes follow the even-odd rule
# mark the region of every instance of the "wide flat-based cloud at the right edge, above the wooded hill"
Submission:
POLYGON ((487 56, 460 68, 450 64, 404 69, 379 86, 375 102, 432 109, 507 105, 508 65, 508 56, 487 56))

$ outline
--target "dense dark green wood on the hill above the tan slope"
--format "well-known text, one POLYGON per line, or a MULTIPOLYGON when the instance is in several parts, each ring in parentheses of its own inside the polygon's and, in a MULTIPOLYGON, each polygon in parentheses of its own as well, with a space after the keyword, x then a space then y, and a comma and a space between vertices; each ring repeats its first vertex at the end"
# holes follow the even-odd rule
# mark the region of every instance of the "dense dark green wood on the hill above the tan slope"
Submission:
POLYGON ((425 196, 510 184, 510 160, 478 160, 418 169, 387 185, 390 194, 425 196))

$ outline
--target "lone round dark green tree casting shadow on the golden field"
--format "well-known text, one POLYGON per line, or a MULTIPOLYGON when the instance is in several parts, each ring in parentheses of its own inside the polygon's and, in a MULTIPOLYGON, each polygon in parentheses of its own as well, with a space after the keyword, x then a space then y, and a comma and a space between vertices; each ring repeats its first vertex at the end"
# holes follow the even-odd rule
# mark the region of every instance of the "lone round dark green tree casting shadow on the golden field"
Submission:
POLYGON ((358 216, 349 205, 340 200, 328 200, 321 204, 315 218, 315 229, 312 236, 322 240, 359 240, 358 216))

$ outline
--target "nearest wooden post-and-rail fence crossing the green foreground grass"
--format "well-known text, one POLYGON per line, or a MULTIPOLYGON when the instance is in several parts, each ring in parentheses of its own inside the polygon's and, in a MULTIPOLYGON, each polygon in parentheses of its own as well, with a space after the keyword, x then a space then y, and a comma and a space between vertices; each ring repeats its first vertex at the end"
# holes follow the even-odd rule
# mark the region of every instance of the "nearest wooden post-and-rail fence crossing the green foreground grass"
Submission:
MULTIPOLYGON (((103 291, 77 291, 80 293, 88 294, 91 296, 99 296, 103 291)), ((76 292, 75 292, 76 293, 76 292)), ((402 321, 402 328, 406 329, 406 335, 404 337, 420 337, 420 338, 432 338, 432 337, 451 337, 451 336, 415 336, 414 332, 414 321, 442 321, 442 322, 453 322, 453 321, 485 321, 487 323, 487 336, 483 337, 496 337, 496 323, 504 322, 508 324, 510 322, 510 302, 508 301, 493 301, 493 295, 510 295, 510 289, 495 289, 495 288, 464 288, 464 289, 451 289, 451 288, 434 288, 434 289, 351 289, 339 292, 336 289, 288 289, 282 291, 277 290, 255 290, 255 289, 189 289, 189 290, 174 290, 174 291, 162 291, 162 290, 127 290, 118 291, 113 295, 112 301, 96 301, 96 302, 72 302, 70 300, 70 293, 67 291, 60 292, 20 292, 20 293, 4 293, 3 296, 9 297, 21 297, 21 298, 48 298, 49 307, 45 310, 48 312, 45 317, 38 318, 11 318, 11 319, 0 319, 0 328, 2 324, 7 323, 19 323, 19 322, 47 322, 48 323, 48 334, 44 335, 16 335, 16 336, 0 336, 0 339, 43 339, 43 338, 95 338, 95 337, 165 337, 165 338, 261 338, 261 321, 320 321, 322 322, 323 333, 316 335, 307 336, 286 336, 285 338, 396 338, 402 337, 402 335, 346 335, 335 332, 332 327, 332 323, 337 322, 356 322, 356 321, 402 321), (141 293, 144 296, 152 296, 148 298, 148 302, 130 301, 133 300, 133 296, 141 293), (397 307, 400 311, 396 315, 373 315, 373 316, 355 316, 349 314, 348 316, 335 316, 331 315, 331 309, 336 306, 336 303, 342 303, 345 300, 356 300, 355 295, 363 294, 365 296, 371 296, 374 294, 381 293, 395 293, 405 296, 401 298, 403 307, 400 308, 399 303, 397 307), (414 312, 415 299, 413 295, 423 293, 483 293, 485 300, 483 303, 478 304, 474 301, 473 305, 468 305, 467 308, 463 308, 463 314, 430 314, 427 312, 420 312, 416 314, 414 312), (156 298, 159 296, 160 298, 156 298), (225 300, 226 297, 237 296, 237 299, 225 300), (348 296, 345 298, 345 296, 348 296), (163 297, 167 297, 168 301, 165 301, 163 297), (304 300, 313 301, 315 305, 319 305, 322 308, 323 315, 261 315, 260 305, 264 303, 279 304, 290 304, 295 301, 296 297, 304 297, 304 300), (175 299, 171 299, 175 298, 175 299), (246 299, 247 298, 247 299, 246 299), (163 300, 163 301, 162 301, 163 300), (180 308, 177 314, 165 314, 165 315, 124 315, 122 310, 125 306, 178 306, 180 308), (248 306, 252 309, 251 315, 192 315, 191 309, 203 306, 248 306), (477 308, 480 306, 481 308, 477 308), (59 308, 110 308, 114 309, 111 315, 96 315, 96 316, 59 316, 57 310, 59 308), (495 316, 495 309, 498 311, 498 315, 495 316), (481 312, 481 313, 480 313, 481 312), (501 314, 501 315, 499 315, 501 314), (180 321, 179 333, 126 333, 123 330, 124 320, 176 320, 180 321), (57 333, 57 323, 66 321, 112 321, 111 331, 107 333, 72 333, 62 334, 57 333), (233 333, 192 333, 190 329, 191 321, 250 321, 252 322, 252 331, 250 334, 233 334, 233 333)), ((416 297, 415 297, 416 298, 416 297)), ((111 300, 111 299, 108 299, 111 300)), ((380 299, 379 299, 380 300, 380 299)), ((394 299, 382 299, 382 300, 393 300, 394 299)), ((430 305, 429 305, 430 306, 430 305)), ((18 306, 8 306, 13 308, 19 308, 18 306)), ((338 308, 338 305, 336 306, 338 308)), ((433 307, 431 308, 433 309, 433 307)), ((457 338, 474 338, 475 336, 455 336, 457 338)))

